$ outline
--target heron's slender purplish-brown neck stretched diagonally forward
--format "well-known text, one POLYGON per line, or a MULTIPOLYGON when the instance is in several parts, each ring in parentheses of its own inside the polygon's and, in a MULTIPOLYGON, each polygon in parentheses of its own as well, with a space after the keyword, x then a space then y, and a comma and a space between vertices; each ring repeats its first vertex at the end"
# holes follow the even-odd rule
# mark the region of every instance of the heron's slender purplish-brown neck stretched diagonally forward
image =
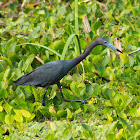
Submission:
POLYGON ((75 62, 76 62, 76 65, 78 63, 80 63, 83 59, 85 59, 89 53, 91 52, 91 50, 96 47, 98 44, 98 42, 95 40, 94 42, 92 42, 86 49, 85 51, 78 57, 74 58, 75 62))

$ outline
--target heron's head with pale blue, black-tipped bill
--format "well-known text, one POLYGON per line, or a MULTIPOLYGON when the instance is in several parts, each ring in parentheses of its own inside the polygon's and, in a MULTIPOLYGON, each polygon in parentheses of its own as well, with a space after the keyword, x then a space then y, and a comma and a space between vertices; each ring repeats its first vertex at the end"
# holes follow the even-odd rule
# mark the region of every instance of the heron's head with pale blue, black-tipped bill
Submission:
POLYGON ((113 49, 115 51, 122 53, 119 49, 117 49, 111 43, 109 43, 108 40, 106 40, 105 38, 100 37, 97 39, 97 42, 98 42, 98 45, 103 45, 105 47, 109 47, 110 49, 113 49))

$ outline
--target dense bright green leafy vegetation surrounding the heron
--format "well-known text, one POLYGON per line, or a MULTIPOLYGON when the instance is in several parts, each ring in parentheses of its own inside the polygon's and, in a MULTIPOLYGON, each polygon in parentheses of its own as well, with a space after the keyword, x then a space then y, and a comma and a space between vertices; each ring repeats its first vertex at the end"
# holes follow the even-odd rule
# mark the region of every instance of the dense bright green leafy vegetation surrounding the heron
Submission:
POLYGON ((140 139, 140 53, 127 55, 140 46, 140 3, 33 2, 21 10, 15 0, 0 10, 1 139, 140 139), (45 89, 13 84, 43 63, 78 56, 97 34, 112 44, 117 38, 124 53, 98 46, 61 80, 67 99, 95 100, 64 102, 53 85, 44 107, 45 89))

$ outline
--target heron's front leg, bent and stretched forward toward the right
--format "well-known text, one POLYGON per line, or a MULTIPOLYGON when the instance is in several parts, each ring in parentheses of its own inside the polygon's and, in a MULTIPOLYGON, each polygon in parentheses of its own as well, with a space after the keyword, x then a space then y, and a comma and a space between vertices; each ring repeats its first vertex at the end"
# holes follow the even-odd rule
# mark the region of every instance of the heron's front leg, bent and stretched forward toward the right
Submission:
POLYGON ((82 104, 85 104, 85 103, 88 103, 88 100, 91 99, 91 97, 88 98, 87 100, 70 100, 70 99, 66 99, 66 98, 64 97, 64 95, 63 95, 62 87, 61 87, 61 85, 60 85, 60 82, 57 83, 57 86, 58 86, 58 88, 60 89, 60 92, 61 92, 61 95, 62 95, 63 101, 65 101, 65 102, 72 102, 72 101, 74 101, 74 102, 81 102, 82 104))

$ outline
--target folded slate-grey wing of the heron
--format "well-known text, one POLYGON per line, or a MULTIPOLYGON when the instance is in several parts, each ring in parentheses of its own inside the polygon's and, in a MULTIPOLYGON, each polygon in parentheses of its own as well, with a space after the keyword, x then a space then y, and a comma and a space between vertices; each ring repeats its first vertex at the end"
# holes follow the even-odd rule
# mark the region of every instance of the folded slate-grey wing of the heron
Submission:
POLYGON ((20 77, 15 84, 31 85, 45 87, 47 85, 55 84, 60 80, 63 73, 64 61, 52 61, 46 63, 30 73, 20 77))

